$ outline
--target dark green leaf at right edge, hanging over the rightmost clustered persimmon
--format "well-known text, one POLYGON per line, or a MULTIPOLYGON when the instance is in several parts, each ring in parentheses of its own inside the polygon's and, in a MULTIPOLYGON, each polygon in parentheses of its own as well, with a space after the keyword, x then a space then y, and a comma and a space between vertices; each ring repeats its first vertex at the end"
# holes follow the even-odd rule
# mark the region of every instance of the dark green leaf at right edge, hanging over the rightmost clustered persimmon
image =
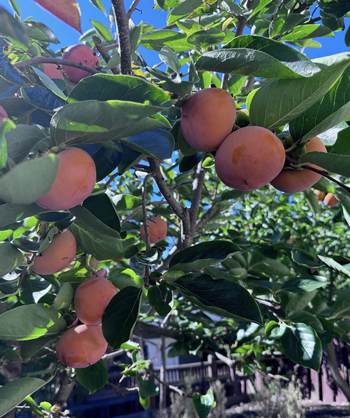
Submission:
POLYGON ((350 69, 347 68, 321 100, 289 124, 294 141, 306 142, 344 121, 350 113, 350 69))

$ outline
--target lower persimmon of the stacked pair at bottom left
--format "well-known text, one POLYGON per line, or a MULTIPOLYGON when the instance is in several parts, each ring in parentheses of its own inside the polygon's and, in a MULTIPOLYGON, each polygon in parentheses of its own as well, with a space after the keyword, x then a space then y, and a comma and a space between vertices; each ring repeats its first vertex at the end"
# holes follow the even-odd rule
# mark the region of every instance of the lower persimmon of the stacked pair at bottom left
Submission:
POLYGON ((69 367, 88 367, 100 360, 107 350, 100 325, 78 325, 68 329, 58 340, 56 355, 69 367))

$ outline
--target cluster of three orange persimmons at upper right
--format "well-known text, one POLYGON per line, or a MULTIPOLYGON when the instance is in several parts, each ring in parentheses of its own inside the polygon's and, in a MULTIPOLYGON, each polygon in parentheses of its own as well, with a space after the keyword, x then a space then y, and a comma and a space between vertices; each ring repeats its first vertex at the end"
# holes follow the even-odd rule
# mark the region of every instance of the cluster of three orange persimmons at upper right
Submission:
MULTIPOLYGON (((250 125, 239 128, 235 121, 235 102, 219 88, 198 91, 182 107, 184 138, 198 151, 215 151, 216 173, 227 186, 251 191, 271 183, 280 191, 296 193, 321 178, 307 168, 290 166, 282 141, 270 130, 250 125)), ((318 137, 301 150, 311 151, 327 152, 318 137)))

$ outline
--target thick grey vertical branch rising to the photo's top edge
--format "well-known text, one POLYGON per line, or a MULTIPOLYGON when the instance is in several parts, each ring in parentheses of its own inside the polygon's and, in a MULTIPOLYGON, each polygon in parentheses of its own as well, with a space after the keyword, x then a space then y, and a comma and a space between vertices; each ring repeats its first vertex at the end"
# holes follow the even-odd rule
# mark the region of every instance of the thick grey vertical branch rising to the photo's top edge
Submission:
POLYGON ((123 0, 112 0, 115 22, 118 28, 120 45, 120 67, 122 74, 132 74, 129 19, 125 13, 123 0))

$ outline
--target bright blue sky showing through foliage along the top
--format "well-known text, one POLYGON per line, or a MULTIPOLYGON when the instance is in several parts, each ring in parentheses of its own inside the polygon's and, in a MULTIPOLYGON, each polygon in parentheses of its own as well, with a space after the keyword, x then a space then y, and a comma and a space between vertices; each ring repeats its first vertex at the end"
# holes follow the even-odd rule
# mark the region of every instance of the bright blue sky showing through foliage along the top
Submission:
MULTIPOLYGON (((21 9, 22 19, 32 16, 34 20, 45 23, 54 32, 56 37, 60 40, 60 44, 57 46, 54 45, 53 49, 60 49, 78 43, 80 34, 76 30, 52 16, 50 13, 38 6, 33 0, 17 0, 17 2, 21 9)), ((83 33, 92 28, 90 20, 99 20, 109 27, 108 17, 100 10, 96 9, 90 1, 78 0, 78 3, 82 14, 81 19, 83 33)), ((127 10, 131 3, 132 0, 125 0, 125 7, 127 10)), ((103 4, 108 14, 111 1, 103 0, 103 4)), ((12 12, 8 0, 0 0, 0 5, 12 12)), ((150 23, 157 28, 165 26, 167 13, 162 10, 153 9, 153 5, 153 0, 141 0, 138 6, 139 11, 136 10, 132 16, 134 23, 139 24, 142 20, 143 22, 150 23)), ((348 20, 349 19, 346 19, 347 27, 349 26, 348 20)), ((318 58, 349 51, 349 48, 346 47, 344 42, 345 32, 346 31, 340 31, 336 33, 335 38, 316 38, 315 40, 322 43, 322 48, 307 48, 305 51, 306 55, 310 58, 318 58)), ((143 47, 141 47, 140 52, 149 65, 154 65, 159 62, 157 52, 148 51, 143 47)))

